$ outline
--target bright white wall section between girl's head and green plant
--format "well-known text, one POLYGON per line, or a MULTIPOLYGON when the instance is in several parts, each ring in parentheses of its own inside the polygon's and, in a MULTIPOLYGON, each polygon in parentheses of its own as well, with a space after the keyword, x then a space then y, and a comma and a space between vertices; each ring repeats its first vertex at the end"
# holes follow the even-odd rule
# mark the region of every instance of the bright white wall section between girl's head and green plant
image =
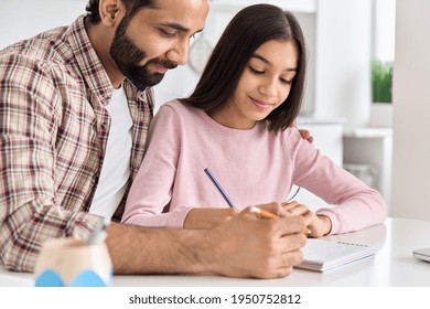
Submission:
POLYGON ((315 116, 363 127, 370 110, 372 0, 318 2, 315 116))

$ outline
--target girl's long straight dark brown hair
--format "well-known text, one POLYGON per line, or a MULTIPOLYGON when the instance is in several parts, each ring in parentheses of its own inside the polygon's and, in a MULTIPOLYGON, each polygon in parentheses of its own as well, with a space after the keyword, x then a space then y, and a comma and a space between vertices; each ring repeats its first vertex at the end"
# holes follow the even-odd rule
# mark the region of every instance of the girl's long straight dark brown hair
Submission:
POLYGON ((228 23, 193 94, 181 102, 206 113, 221 109, 234 94, 256 50, 270 40, 291 40, 298 50, 297 74, 288 98, 269 116, 270 130, 284 130, 298 117, 305 79, 305 44, 295 17, 271 4, 255 4, 239 11, 228 23))

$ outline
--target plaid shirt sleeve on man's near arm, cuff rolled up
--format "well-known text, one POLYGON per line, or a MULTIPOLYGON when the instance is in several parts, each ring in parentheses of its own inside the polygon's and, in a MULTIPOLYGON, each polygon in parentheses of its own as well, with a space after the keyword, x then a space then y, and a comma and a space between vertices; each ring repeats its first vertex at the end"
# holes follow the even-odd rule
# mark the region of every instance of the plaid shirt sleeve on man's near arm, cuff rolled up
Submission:
POLYGON ((57 204, 55 142, 62 99, 43 63, 0 55, 0 265, 32 271, 52 237, 86 238, 97 216, 57 204))

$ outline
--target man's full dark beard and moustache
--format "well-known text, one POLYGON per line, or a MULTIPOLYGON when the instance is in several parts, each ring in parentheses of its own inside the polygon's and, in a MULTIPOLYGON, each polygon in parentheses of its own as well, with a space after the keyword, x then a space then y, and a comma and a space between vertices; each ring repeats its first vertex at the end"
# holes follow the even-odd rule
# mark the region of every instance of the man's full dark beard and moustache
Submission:
POLYGON ((110 56, 121 73, 139 89, 144 90, 147 87, 159 84, 163 77, 163 73, 150 73, 148 65, 151 63, 160 64, 166 68, 174 68, 178 64, 164 60, 152 58, 144 65, 139 63, 147 56, 126 35, 129 19, 127 17, 121 20, 115 32, 112 44, 110 45, 110 56))

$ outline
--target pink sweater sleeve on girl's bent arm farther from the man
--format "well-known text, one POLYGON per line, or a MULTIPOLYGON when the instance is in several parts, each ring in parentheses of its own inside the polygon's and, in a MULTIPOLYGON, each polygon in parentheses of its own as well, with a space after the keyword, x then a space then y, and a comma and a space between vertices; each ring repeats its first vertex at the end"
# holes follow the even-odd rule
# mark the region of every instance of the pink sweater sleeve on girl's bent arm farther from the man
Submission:
POLYGON ((387 206, 379 192, 304 142, 298 131, 292 134, 293 181, 335 205, 316 212, 332 221, 330 234, 358 231, 384 222, 387 206))

